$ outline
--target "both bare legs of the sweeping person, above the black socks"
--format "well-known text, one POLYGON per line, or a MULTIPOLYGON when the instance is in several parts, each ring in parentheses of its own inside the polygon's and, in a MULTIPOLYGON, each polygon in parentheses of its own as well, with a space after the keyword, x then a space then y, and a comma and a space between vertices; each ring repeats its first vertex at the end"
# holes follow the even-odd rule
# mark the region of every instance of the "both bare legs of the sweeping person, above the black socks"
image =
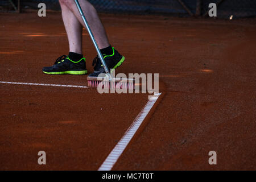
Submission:
MULTIPOLYGON (((71 52, 82 52, 81 24, 82 18, 73 0, 59 0, 63 15, 63 22, 68 34, 69 49, 71 52), (71 15, 72 14, 72 15, 71 15), (76 18, 75 18, 76 17, 76 18), (80 22, 80 26, 79 26, 80 22)), ((84 11, 88 24, 93 32, 96 42, 100 49, 110 46, 106 31, 98 17, 97 11, 86 0, 79 0, 80 6, 84 11)))

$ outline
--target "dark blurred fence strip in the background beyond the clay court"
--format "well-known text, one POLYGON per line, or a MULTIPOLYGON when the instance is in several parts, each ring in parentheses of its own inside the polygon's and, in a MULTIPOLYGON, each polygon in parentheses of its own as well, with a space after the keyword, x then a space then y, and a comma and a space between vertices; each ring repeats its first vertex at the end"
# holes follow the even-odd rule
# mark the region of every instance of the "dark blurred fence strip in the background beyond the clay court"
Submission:
MULTIPOLYGON (((19 0, 12 0, 18 7, 19 0)), ((102 13, 168 14, 176 16, 208 16, 209 3, 217 4, 217 17, 245 18, 256 16, 256 0, 89 0, 102 13)), ((11 0, 0 0, 0 10, 14 10, 11 0)), ((60 10, 57 0, 20 0, 22 9, 37 9, 38 3, 47 9, 60 10)))

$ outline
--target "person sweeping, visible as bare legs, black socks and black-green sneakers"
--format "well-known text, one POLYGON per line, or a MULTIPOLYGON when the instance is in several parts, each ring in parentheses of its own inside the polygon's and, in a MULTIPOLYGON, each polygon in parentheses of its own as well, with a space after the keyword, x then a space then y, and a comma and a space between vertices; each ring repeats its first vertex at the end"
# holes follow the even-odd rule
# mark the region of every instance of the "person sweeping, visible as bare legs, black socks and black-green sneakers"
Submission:
MULTIPOLYGON (((79 10, 76 7, 75 1, 73 0, 59 0, 63 15, 63 22, 68 35, 69 42, 69 56, 59 57, 55 61, 55 65, 52 67, 44 67, 43 72, 47 74, 72 74, 72 75, 84 75, 87 73, 85 58, 82 58, 82 21, 79 10), (79 24, 80 22, 80 24, 79 24), (72 56, 71 56, 72 55, 72 56), (80 57, 81 56, 81 57, 80 57), (77 59, 71 59, 76 57, 77 59), (78 57, 80 57, 78 59, 78 57)), ((80 6, 84 11, 88 24, 92 30, 92 33, 96 39, 98 47, 101 49, 101 53, 104 55, 104 60, 108 65, 109 69, 115 69, 119 67, 125 57, 117 52, 109 44, 106 31, 101 23, 100 18, 94 7, 86 0, 79 0, 80 6)), ((98 76, 100 73, 104 73, 105 70, 101 64, 100 59, 96 57, 93 61, 94 72, 90 76, 98 76)))

